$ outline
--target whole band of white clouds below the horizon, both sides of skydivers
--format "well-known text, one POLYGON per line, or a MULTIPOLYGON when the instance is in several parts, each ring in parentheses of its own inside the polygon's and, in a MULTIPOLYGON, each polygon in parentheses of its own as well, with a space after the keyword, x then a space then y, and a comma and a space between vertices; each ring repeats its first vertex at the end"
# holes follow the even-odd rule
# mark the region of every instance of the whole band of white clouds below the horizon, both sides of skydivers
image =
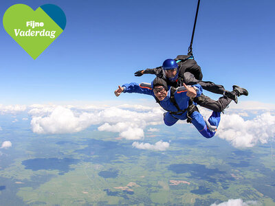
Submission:
MULTIPOLYGON (((205 117, 211 115, 211 111, 204 108, 199 110, 205 117)), ((38 134, 77 133, 96 125, 100 131, 118 133, 118 137, 124 139, 138 140, 144 138, 144 130, 150 133, 162 133, 162 129, 151 126, 164 125, 162 116, 164 111, 160 107, 129 104, 118 106, 33 104, 28 107, 0 105, 1 114, 21 111, 28 111, 32 131, 38 134)), ((181 123, 184 121, 179 121, 177 124, 181 123)), ((182 124, 180 129, 184 128, 185 125, 182 124)), ((194 132, 197 133, 195 127, 194 132)), ((265 144, 274 139, 274 136, 274 110, 227 109, 225 114, 221 115, 221 123, 214 138, 225 139, 234 147, 252 147, 256 144, 265 144)))

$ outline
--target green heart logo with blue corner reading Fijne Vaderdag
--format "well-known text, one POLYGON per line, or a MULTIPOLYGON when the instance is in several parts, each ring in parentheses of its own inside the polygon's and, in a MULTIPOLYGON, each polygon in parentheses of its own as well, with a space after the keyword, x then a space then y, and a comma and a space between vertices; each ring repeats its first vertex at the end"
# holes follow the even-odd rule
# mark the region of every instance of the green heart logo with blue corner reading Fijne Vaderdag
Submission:
POLYGON ((66 16, 57 5, 41 5, 35 11, 28 5, 15 4, 5 11, 5 31, 36 59, 63 32, 66 16))

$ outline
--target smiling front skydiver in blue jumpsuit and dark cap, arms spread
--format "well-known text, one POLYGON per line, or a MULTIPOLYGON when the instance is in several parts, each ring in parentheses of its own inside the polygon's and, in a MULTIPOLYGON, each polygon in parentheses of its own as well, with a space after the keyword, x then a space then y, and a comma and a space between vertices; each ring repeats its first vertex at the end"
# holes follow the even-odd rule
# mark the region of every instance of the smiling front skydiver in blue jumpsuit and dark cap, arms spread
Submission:
POLYGON ((204 120, 197 110, 197 106, 188 97, 188 95, 193 97, 201 95, 202 87, 199 84, 189 87, 184 84, 184 87, 175 89, 168 87, 164 79, 157 77, 151 84, 132 82, 123 84, 122 87, 118 86, 115 95, 118 97, 121 93, 144 93, 153 96, 159 105, 167 111, 164 113, 164 123, 167 126, 172 126, 179 119, 188 119, 188 122, 192 123, 206 138, 213 137, 219 126, 220 112, 213 111, 209 119, 204 120))

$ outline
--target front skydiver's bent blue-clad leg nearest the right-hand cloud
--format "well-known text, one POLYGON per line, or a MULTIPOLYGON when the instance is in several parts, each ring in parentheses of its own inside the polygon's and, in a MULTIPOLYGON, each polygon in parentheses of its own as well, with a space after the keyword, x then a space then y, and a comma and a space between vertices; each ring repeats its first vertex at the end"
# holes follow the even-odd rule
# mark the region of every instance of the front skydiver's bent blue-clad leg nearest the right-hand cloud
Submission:
POLYGON ((197 111, 193 112, 192 117, 192 124, 197 128, 199 133, 203 135, 203 137, 211 138, 215 135, 217 127, 219 126, 219 121, 221 119, 220 117, 221 113, 214 112, 208 119, 208 126, 201 116, 201 114, 197 111))

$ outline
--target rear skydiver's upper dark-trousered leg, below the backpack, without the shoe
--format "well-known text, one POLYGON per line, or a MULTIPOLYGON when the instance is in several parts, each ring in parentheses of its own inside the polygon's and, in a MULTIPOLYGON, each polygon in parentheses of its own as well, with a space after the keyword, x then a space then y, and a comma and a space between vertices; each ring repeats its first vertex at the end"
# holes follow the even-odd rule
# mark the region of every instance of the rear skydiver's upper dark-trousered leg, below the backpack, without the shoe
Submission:
POLYGON ((186 84, 191 84, 191 85, 200 84, 202 89, 205 89, 212 93, 217 93, 222 95, 225 92, 223 85, 214 84, 213 82, 204 82, 201 80, 197 80, 195 76, 188 71, 184 73, 184 82, 186 84))

